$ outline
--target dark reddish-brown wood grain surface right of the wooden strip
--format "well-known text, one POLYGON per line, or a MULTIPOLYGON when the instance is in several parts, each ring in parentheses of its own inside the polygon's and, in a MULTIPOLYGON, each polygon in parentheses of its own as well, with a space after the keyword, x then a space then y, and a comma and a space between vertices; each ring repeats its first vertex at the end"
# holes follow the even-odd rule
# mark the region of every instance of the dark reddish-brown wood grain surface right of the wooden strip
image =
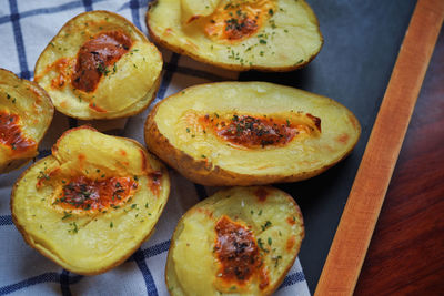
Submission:
POLYGON ((443 65, 442 31, 355 295, 444 294, 443 65))

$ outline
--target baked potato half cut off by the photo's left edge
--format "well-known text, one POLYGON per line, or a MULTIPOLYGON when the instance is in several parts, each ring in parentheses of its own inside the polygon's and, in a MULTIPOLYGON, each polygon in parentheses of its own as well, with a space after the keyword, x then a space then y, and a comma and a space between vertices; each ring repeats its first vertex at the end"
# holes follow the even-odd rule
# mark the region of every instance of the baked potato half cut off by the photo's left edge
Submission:
POLYGON ((0 174, 38 154, 53 113, 51 99, 42 88, 0 69, 0 174))

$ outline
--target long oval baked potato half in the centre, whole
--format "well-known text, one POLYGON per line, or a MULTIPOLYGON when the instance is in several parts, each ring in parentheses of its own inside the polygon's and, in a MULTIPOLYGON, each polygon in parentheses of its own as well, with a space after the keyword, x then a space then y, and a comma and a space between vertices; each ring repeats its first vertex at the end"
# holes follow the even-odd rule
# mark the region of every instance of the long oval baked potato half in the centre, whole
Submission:
POLYGON ((144 131, 151 152, 210 186, 312 177, 344 159, 360 133, 337 102, 266 82, 185 89, 155 105, 144 131))

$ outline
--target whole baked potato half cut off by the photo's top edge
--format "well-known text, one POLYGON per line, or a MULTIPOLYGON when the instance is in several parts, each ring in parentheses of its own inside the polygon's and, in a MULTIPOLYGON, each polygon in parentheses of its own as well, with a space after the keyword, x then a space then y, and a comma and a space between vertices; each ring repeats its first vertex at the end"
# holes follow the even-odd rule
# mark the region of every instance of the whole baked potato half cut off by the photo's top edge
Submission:
POLYGON ((323 44, 304 0, 157 0, 147 25, 159 44, 236 71, 295 70, 323 44))

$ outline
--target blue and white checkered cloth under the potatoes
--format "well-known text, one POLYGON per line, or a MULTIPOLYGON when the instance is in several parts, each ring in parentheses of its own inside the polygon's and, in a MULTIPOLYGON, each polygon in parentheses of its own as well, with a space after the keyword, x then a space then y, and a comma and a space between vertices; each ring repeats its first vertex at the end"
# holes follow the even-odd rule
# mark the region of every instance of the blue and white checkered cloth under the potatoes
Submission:
MULTIPOLYGON (((1 0, 0 68, 21 78, 32 79, 33 65, 44 47, 68 20, 84 11, 117 12, 147 33, 144 16, 148 2, 149 0, 1 0)), ((239 75, 236 72, 204 65, 167 50, 162 50, 162 54, 163 76, 155 102, 190 85, 235 80, 239 75)), ((107 126, 98 123, 95 127, 144 143, 143 123, 148 112, 149 110, 129 120, 107 122, 107 126)), ((82 122, 57 112, 39 149, 39 157, 50 154, 52 144, 63 131, 79 124, 82 122)), ((44 258, 29 247, 16 229, 9 200, 11 186, 24 169, 0 176, 0 295, 168 295, 164 266, 172 232, 188 208, 214 191, 195 185, 170 170, 170 201, 150 241, 142 244, 119 267, 102 275, 81 276, 44 258)), ((299 259, 275 295, 310 295, 299 259)))

